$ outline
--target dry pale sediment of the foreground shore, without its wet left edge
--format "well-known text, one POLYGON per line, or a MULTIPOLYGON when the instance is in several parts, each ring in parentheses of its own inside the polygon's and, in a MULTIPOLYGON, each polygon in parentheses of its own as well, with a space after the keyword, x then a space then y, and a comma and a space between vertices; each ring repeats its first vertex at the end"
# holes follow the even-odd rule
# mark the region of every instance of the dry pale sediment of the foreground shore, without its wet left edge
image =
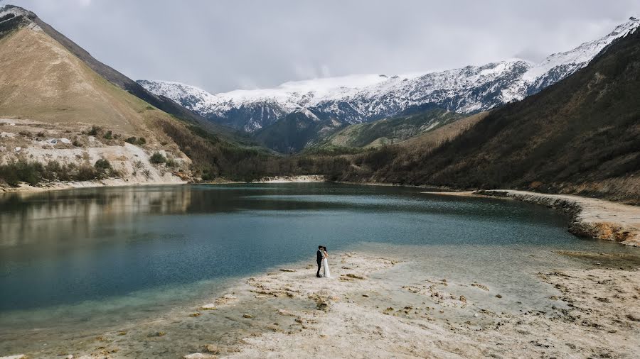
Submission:
POLYGON ((218 307, 243 306, 243 298, 278 297, 314 302, 316 309, 283 306, 278 310, 282 319, 294 318, 299 328, 268 326, 262 335, 240 340, 230 352, 216 348, 216 354, 230 358, 631 358, 640 350, 637 270, 540 273, 540 281, 558 289, 558 308, 513 314, 488 310, 482 302, 460 295, 460 288, 466 287, 499 297, 479 283, 413 273, 402 285, 384 279, 388 270, 402 270, 395 267, 403 263, 391 258, 345 253, 331 261, 334 279, 318 279, 310 274, 313 268, 294 267, 250 278, 234 291, 233 301, 218 302, 218 307), (442 319, 439 314, 444 311, 467 320, 442 319))

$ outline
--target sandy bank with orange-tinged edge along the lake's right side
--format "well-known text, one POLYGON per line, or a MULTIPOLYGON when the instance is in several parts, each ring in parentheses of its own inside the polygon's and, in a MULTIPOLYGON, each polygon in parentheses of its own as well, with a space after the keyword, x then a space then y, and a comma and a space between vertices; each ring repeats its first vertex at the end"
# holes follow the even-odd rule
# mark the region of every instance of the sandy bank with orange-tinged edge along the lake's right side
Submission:
POLYGON ((640 207, 638 206, 570 194, 543 194, 515 189, 422 193, 515 199, 543 205, 571 216, 572 222, 568 230, 575 236, 598 238, 640 247, 640 207))

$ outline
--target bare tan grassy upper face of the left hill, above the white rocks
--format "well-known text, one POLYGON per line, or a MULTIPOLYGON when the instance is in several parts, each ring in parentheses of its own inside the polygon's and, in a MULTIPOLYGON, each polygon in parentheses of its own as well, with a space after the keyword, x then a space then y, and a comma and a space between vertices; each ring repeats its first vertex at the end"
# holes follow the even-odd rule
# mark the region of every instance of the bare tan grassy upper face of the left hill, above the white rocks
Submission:
POLYGON ((149 104, 107 82, 38 27, 0 39, 0 67, 0 116, 127 133, 144 128, 149 104))

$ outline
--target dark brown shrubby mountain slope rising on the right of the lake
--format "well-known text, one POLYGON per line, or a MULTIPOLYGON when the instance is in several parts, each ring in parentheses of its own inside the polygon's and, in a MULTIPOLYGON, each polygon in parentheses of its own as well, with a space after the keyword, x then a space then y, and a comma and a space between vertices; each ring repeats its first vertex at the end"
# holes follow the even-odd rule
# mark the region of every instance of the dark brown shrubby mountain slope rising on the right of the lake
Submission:
POLYGON ((343 180, 526 188, 640 203, 640 31, 436 150, 387 148, 343 180), (384 160, 380 160, 383 158, 384 160))

